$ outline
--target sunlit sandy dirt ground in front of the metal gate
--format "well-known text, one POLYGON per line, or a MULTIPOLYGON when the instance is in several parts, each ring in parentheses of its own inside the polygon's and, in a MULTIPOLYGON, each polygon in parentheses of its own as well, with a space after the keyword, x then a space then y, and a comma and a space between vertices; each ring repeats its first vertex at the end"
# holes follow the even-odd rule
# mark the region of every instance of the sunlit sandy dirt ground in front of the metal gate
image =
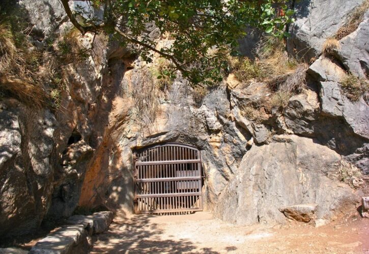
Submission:
POLYGON ((314 228, 239 227, 211 213, 116 218, 91 253, 369 253, 369 219, 350 217, 314 228))

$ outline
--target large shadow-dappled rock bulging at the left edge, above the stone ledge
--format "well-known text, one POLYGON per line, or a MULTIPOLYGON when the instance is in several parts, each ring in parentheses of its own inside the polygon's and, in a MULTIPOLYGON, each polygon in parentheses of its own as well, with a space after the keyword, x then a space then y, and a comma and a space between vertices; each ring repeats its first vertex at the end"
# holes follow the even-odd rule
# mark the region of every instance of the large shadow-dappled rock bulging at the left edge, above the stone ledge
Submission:
POLYGON ((47 110, 2 103, 7 110, 0 110, 0 235, 12 236, 37 228, 47 211, 56 123, 47 110))

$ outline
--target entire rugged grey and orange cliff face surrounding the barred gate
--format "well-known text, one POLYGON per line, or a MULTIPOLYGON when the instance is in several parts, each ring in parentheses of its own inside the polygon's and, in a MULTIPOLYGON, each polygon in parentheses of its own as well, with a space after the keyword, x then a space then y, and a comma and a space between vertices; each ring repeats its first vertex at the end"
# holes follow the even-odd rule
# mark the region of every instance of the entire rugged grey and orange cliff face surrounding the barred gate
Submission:
MULTIPOLYGON (((36 24, 34 40, 57 36, 71 25, 58 1, 44 2, 19 3, 36 24)), ((0 238, 29 233, 49 218, 69 217, 69 224, 82 225, 84 233, 71 229, 74 236, 105 230, 110 213, 70 216, 77 206, 131 213, 133 152, 163 142, 201 150, 205 209, 226 221, 329 221, 345 207, 355 209, 350 185, 360 187, 360 175, 369 174, 369 111, 365 96, 349 101, 339 82, 347 71, 367 74, 367 17, 340 41, 334 57, 318 57, 325 39, 362 3, 341 2, 296 1, 288 50, 318 59, 307 71, 309 88, 280 110, 268 104, 273 91, 267 83, 230 76, 198 102, 178 74, 170 88, 153 88, 155 100, 148 108, 156 111, 150 115, 138 107, 147 98, 139 100, 134 89, 145 88, 143 70, 151 66, 100 37, 94 42, 99 56, 91 53, 63 67, 63 110, 34 110, 16 99, 1 99, 0 238), (326 12, 327 5, 333 11, 326 12)), ((158 30, 150 30, 152 40, 158 40, 158 30)), ((78 40, 91 47, 93 36, 78 40)), ((161 40, 158 48, 171 43, 161 40)), ((241 50, 252 57, 249 47, 243 43, 241 50)), ((78 236, 73 237, 66 245, 74 246, 78 236)))

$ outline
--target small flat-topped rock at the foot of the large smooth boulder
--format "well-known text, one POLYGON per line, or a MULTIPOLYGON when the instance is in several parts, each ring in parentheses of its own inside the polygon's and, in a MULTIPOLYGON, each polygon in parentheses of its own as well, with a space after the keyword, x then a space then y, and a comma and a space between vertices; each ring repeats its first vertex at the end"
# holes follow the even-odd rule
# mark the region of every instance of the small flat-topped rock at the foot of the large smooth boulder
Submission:
POLYGON ((281 207, 279 211, 289 219, 308 223, 311 219, 315 218, 317 207, 317 204, 299 204, 281 207))

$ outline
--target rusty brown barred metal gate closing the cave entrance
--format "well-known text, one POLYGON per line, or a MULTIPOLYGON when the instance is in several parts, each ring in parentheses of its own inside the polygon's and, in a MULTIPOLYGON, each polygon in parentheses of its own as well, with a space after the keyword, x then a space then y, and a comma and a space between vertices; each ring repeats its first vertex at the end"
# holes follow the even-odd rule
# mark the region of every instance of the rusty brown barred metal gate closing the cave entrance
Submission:
POLYGON ((135 213, 203 210, 200 150, 166 143, 134 155, 135 213))

